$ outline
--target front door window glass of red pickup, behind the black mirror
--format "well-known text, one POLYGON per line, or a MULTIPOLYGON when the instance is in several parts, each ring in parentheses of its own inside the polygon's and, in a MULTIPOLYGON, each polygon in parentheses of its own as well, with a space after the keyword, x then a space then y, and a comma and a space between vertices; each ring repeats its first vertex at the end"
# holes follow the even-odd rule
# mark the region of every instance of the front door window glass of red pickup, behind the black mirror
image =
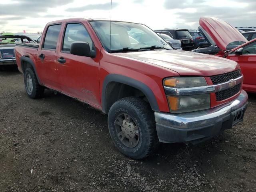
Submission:
POLYGON ((70 52, 70 46, 75 41, 88 42, 90 50, 92 50, 92 39, 84 26, 77 23, 67 24, 62 50, 70 52))

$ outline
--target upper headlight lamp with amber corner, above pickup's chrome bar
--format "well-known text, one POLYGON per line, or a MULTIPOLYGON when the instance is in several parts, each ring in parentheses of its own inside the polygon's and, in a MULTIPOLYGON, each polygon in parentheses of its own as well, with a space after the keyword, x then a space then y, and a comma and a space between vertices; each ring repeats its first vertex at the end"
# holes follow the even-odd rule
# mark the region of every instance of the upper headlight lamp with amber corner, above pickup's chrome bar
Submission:
POLYGON ((164 86, 175 88, 200 87, 206 85, 206 80, 203 77, 174 77, 164 80, 164 86))

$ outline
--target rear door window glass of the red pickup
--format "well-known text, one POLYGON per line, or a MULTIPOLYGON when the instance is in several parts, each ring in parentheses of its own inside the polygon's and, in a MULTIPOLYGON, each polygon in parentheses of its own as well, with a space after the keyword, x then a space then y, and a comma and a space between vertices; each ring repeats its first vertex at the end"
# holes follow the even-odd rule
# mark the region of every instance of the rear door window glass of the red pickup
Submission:
POLYGON ((60 28, 61 28, 61 24, 51 25, 48 27, 46 36, 44 39, 43 48, 56 50, 58 37, 60 34, 60 28))

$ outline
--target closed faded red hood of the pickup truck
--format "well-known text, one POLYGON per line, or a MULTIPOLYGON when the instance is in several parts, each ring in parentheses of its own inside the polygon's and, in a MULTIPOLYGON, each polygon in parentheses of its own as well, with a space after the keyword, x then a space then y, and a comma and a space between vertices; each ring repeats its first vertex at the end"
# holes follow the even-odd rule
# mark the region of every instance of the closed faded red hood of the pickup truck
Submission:
POLYGON ((180 50, 156 50, 113 54, 168 68, 184 76, 212 76, 239 69, 238 64, 232 60, 180 50))

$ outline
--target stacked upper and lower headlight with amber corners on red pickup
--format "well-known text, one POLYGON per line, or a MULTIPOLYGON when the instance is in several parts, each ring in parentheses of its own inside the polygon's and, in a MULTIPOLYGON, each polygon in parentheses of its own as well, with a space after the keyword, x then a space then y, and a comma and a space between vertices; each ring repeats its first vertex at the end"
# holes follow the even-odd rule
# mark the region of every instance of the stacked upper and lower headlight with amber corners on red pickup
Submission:
MULTIPOLYGON (((207 83, 204 77, 174 77, 164 79, 164 86, 166 90, 172 89, 175 90, 174 92, 176 92, 184 90, 184 88, 207 86, 207 83)), ((167 94, 167 99, 170 106, 170 112, 172 113, 191 112, 210 108, 209 93, 192 94, 188 96, 167 94)))

